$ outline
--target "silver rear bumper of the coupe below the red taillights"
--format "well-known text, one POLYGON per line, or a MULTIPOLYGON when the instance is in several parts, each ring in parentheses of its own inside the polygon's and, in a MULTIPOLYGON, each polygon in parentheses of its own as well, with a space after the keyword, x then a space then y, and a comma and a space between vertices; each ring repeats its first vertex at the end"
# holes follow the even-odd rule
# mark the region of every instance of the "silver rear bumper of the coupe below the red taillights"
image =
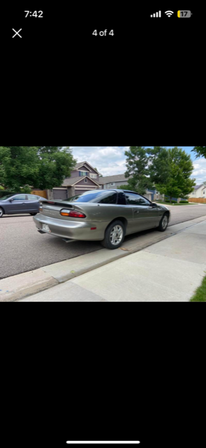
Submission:
POLYGON ((50 218, 42 214, 34 216, 34 223, 36 228, 41 233, 54 235, 54 237, 78 239, 81 241, 101 241, 104 239, 105 228, 107 223, 88 223, 85 221, 64 221, 57 218, 50 218), (51 232, 43 231, 43 224, 47 224, 51 232), (96 227, 96 230, 91 228, 96 227))

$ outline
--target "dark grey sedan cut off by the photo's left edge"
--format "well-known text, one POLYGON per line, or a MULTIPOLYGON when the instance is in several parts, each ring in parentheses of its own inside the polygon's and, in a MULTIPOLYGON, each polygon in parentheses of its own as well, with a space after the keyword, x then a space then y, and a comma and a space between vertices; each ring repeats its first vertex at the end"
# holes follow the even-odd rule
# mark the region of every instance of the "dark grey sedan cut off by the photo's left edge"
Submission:
POLYGON ((38 214, 39 201, 44 197, 36 195, 8 195, 0 198, 0 218, 3 214, 14 215, 28 213, 32 216, 38 214))

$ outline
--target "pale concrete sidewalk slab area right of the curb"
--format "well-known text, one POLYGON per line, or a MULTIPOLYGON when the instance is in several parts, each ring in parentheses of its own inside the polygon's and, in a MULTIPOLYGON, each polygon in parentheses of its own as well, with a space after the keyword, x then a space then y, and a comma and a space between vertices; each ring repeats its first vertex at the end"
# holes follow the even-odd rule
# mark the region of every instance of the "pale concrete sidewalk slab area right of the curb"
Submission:
POLYGON ((206 275, 206 217, 166 232, 161 241, 114 261, 115 251, 107 251, 107 264, 18 301, 188 302, 206 275))

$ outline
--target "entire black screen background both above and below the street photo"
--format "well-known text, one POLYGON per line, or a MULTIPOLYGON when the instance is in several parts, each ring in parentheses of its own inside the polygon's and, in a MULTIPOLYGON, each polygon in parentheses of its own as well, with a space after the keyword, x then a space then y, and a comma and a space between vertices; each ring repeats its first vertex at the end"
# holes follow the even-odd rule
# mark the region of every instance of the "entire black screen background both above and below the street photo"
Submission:
MULTIPOLYGON (((205 132, 204 114, 193 118, 203 96, 204 10, 166 3, 138 5, 135 15, 103 2, 1 6, 3 139, 196 144, 205 132), (45 16, 22 18, 20 9, 45 16), (179 9, 194 14, 150 18, 179 9), (12 28, 23 37, 12 38, 12 28)), ((205 447, 200 307, 1 304, 1 446, 205 447)))

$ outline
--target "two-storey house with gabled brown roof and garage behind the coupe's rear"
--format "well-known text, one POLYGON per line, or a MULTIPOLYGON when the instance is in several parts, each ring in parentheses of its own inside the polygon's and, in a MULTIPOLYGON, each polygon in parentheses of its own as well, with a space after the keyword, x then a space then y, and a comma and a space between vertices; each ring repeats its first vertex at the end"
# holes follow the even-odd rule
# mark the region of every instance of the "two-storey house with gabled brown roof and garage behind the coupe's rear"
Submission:
POLYGON ((86 161, 79 162, 71 172, 71 176, 64 179, 61 187, 57 186, 52 190, 47 190, 47 197, 50 200, 65 200, 68 197, 82 195, 87 191, 99 190, 101 186, 98 180, 99 174, 94 167, 91 167, 86 161))

